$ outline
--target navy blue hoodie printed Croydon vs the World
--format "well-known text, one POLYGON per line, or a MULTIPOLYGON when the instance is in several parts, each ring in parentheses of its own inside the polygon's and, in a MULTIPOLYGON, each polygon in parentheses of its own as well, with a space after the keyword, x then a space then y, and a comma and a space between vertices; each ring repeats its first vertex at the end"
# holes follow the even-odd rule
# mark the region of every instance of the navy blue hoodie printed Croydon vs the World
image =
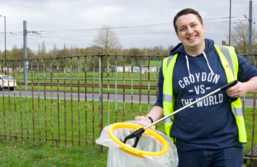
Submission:
MULTIPOLYGON (((186 54, 181 43, 170 51, 170 55, 179 53, 172 76, 173 96, 176 97, 174 111, 227 83, 224 69, 213 49, 214 41, 205 39, 205 45, 206 58, 203 53, 195 57, 186 54)), ((238 53, 237 57, 238 81, 246 82, 257 76, 254 66, 238 53)), ((163 107, 163 79, 160 68, 159 95, 155 106, 163 107)), ((176 138, 177 149, 191 151, 243 147, 238 140, 238 129, 228 99, 225 91, 217 92, 176 113, 170 135, 176 138)))

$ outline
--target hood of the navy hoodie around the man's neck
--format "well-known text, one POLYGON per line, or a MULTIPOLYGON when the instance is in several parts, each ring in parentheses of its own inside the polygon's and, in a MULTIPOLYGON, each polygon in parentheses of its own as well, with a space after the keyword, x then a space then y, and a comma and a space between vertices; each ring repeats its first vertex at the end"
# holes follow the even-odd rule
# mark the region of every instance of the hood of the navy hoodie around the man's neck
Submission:
MULTIPOLYGON (((204 53, 207 54, 214 47, 214 41, 210 40, 210 39, 204 39, 204 41, 205 41, 204 53)), ((185 49, 184 49, 184 46, 182 43, 179 43, 178 45, 176 45, 175 48, 171 49, 170 56, 172 54, 176 54, 178 52, 181 53, 182 55, 187 55, 185 53, 185 49)), ((201 55, 201 54, 199 54, 199 55, 201 55)), ((197 55, 197 56, 199 56, 199 55, 197 55)), ((190 56, 190 55, 187 55, 187 56, 190 56)))

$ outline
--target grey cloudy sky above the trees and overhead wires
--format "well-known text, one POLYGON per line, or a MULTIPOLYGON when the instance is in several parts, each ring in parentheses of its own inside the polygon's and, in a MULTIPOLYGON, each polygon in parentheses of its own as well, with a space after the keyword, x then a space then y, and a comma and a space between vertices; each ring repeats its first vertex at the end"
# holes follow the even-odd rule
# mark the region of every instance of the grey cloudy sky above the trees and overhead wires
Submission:
MULTIPOLYGON (((28 47, 37 51, 45 41, 62 49, 92 45, 97 28, 109 25, 123 48, 176 45, 173 18, 184 8, 202 16, 205 37, 221 45, 229 32, 229 0, 0 0, 0 15, 6 16, 6 49, 23 46, 23 21, 27 21, 28 47), (142 26, 143 25, 143 26, 142 26), (36 31, 39 34, 32 33, 36 31)), ((253 18, 257 3, 253 2, 253 18)), ((231 25, 249 17, 249 0, 231 0, 231 25)), ((255 24, 256 25, 256 24, 255 24)), ((253 25, 253 26, 255 26, 253 25)), ((4 50, 4 18, 0 17, 0 50, 4 50)))

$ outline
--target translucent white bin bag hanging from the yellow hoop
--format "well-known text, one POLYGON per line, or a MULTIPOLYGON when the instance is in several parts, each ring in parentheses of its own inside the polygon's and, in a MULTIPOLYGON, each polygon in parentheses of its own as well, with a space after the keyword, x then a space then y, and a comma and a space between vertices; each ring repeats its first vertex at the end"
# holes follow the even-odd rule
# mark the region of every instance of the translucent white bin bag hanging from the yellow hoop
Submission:
MULTIPOLYGON (((142 124, 142 122, 136 123, 136 121, 128 121, 127 123, 142 124)), ((121 146, 117 144, 113 139, 111 139, 108 134, 109 126, 106 126, 103 129, 101 136, 96 139, 97 144, 101 144, 109 148, 107 167, 175 167, 178 165, 177 149, 172 141, 168 138, 168 136, 164 135, 163 133, 151 128, 151 130, 158 133, 167 141, 168 151, 163 155, 143 155, 145 158, 141 158, 120 150, 119 148, 121 148, 121 146)), ((124 138, 134 131, 134 129, 124 127, 115 129, 113 131, 113 134, 117 139, 121 139, 122 141, 124 141, 124 138)), ((129 145, 131 147, 134 144, 134 141, 135 138, 129 139, 126 142, 126 145, 129 145)), ((155 137, 142 134, 142 137, 140 137, 137 143, 136 149, 146 152, 158 152, 161 151, 163 148, 161 143, 156 140, 155 137)))

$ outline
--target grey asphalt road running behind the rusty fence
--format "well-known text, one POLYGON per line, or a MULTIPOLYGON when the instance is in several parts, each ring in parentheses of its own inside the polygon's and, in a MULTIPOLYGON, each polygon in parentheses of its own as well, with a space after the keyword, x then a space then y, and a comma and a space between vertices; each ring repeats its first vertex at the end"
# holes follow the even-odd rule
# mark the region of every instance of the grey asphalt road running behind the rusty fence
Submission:
MULTIPOLYGON (((0 96, 2 96, 2 91, 0 91, 0 96)), ((14 91, 10 91, 10 96, 14 96, 14 91)), ((8 91, 5 90, 4 91, 4 96, 8 96, 8 91)), ((20 96, 20 91, 16 90, 15 91, 15 96, 19 97, 20 96)), ((28 91, 27 92, 27 96, 28 97, 32 97, 32 91, 28 91)), ((38 92, 37 91, 33 91, 33 96, 35 98, 38 97, 38 92)), ((53 92, 52 94, 53 99, 57 99, 57 92, 53 92)), ((26 91, 21 91, 21 97, 26 97, 26 91)), ((40 98, 44 98, 44 91, 40 91, 39 93, 39 97, 40 98)), ((46 98, 51 98, 51 92, 46 92, 46 98)), ((78 100, 78 93, 77 92, 72 92, 72 98, 73 100, 78 100)), ((64 92, 59 92, 59 99, 64 99, 64 92)), ((71 99, 71 92, 66 92, 66 99, 71 99)), ((87 93, 87 100, 92 100, 92 93, 87 93)), ((110 101, 115 101, 115 94, 110 94, 110 101)), ((84 101, 85 100, 85 93, 80 92, 80 101, 84 101)), ((98 101, 99 97, 98 97, 98 93, 94 93, 94 100, 98 101)), ((104 93, 103 94, 103 100, 107 101, 107 94, 104 93)), ((131 94, 125 94, 125 101, 126 102, 131 102, 131 94)), ((156 101, 156 96, 155 95, 150 95, 150 104, 154 104, 156 101)), ((242 101, 242 99, 241 99, 242 101)), ((117 94, 117 102, 123 102, 123 94, 117 94)), ((141 96, 141 102, 142 103, 148 103, 148 95, 142 95, 141 96)), ((134 94, 133 95, 133 103, 139 103, 139 95, 138 94, 134 94)), ((253 99, 252 98, 246 98, 245 101, 245 106, 246 107, 253 107, 253 99)), ((256 99, 256 103, 255 106, 257 106, 257 99, 256 99)))

